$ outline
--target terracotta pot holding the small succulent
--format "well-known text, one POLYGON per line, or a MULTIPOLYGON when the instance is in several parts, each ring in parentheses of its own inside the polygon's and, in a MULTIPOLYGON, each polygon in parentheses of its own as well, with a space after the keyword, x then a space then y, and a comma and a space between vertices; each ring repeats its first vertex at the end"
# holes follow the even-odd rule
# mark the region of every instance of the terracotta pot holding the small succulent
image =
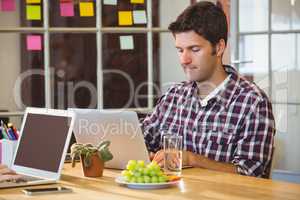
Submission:
POLYGON ((91 157, 91 166, 84 166, 83 156, 81 156, 81 164, 84 176, 101 177, 103 175, 104 162, 96 154, 91 157))

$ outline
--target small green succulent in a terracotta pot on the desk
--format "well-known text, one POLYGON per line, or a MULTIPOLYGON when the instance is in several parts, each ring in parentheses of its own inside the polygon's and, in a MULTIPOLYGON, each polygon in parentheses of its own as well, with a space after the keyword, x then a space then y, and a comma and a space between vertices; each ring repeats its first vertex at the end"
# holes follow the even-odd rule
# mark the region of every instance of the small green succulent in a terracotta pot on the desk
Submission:
POLYGON ((109 145, 110 141, 103 141, 97 146, 74 143, 71 146, 72 167, 75 167, 75 157, 80 156, 84 176, 102 176, 104 162, 113 158, 109 145))

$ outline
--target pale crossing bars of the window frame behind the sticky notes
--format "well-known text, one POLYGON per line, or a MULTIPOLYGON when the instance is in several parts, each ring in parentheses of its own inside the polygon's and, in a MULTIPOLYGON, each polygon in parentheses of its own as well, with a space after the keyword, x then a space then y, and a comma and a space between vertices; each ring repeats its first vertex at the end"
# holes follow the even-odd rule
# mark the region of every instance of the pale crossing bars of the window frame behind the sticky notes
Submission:
MULTIPOLYGON (((43 26, 42 27, 0 27, 0 33, 40 33, 43 34, 44 53, 44 76, 45 76, 45 108, 54 108, 51 98, 51 77, 50 77, 50 34, 51 33, 95 33, 97 51, 97 108, 103 109, 103 69, 102 69, 102 34, 103 33, 146 33, 147 34, 147 70, 148 70, 148 107, 128 108, 141 112, 149 112, 154 107, 153 91, 153 34, 169 32, 167 28, 153 27, 152 24, 152 0, 147 0, 147 26, 146 27, 103 27, 102 26, 102 0, 95 1, 96 27, 50 27, 49 26, 49 1, 43 0, 43 26)), ((193 0, 191 0, 193 3, 193 0)), ((20 116, 24 112, 0 112, 0 116, 20 116)))

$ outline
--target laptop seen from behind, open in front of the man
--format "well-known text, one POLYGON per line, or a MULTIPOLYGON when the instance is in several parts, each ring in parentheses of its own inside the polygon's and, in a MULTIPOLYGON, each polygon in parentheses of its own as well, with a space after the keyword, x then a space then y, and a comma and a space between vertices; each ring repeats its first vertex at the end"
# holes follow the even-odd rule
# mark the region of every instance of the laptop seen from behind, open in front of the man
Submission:
POLYGON ((78 143, 98 145, 109 140, 113 159, 106 168, 125 169, 129 160, 149 163, 142 129, 136 112, 69 108, 76 115, 74 135, 78 143))

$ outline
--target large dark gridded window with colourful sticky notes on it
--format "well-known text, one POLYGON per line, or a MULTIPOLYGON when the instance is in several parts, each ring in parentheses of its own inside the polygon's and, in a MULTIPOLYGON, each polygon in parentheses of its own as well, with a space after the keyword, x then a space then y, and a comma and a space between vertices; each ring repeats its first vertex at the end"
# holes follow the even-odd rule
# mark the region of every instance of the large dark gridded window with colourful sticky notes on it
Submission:
POLYGON ((185 78, 178 63, 170 66, 177 55, 167 26, 195 1, 14 2, 0 11, 1 69, 7 71, 0 109, 152 109, 170 79, 161 65, 176 68, 174 81, 185 78))

